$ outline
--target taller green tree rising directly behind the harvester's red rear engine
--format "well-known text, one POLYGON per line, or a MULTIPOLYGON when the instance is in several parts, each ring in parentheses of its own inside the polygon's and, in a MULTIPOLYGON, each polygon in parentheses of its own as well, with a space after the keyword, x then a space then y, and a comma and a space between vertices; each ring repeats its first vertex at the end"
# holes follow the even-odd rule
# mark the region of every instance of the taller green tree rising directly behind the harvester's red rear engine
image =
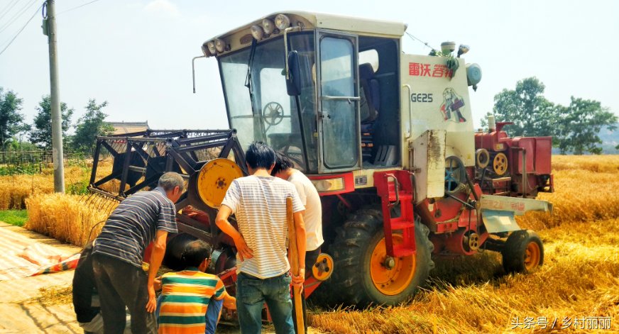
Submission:
MULTIPOLYGON (((516 84, 516 89, 503 89, 494 96, 493 113, 497 122, 513 122, 505 127, 512 136, 554 135, 557 108, 544 97, 546 87, 530 77, 516 84)), ((488 126, 486 119, 481 120, 488 126)))

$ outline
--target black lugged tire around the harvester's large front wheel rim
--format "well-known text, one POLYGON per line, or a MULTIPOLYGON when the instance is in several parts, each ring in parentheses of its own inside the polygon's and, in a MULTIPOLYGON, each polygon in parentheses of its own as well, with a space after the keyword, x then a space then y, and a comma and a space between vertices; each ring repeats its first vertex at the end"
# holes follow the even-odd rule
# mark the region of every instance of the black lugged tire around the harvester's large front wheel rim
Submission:
POLYGON ((396 305, 417 293, 426 283, 429 271, 434 268, 432 250, 428 240, 429 229, 420 221, 415 222, 417 247, 415 274, 404 291, 395 296, 381 293, 370 276, 370 260, 376 244, 384 238, 383 214, 373 208, 362 208, 349 216, 338 231, 332 245, 334 272, 331 277, 332 294, 340 302, 359 307, 368 305, 396 305))

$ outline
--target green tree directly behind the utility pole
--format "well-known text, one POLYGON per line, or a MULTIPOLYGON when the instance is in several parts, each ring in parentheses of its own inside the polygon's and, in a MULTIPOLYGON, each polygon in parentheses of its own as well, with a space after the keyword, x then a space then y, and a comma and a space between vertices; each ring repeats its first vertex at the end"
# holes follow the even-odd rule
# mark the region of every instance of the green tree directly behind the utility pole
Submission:
MULTIPOLYGON (((49 95, 43 96, 36 107, 37 114, 34 116, 34 128, 30 131, 31 143, 43 150, 51 150, 52 147, 52 104, 49 95)), ((64 102, 60 103, 60 115, 62 117, 62 143, 67 147, 67 130, 71 125, 73 108, 69 108, 64 102)))

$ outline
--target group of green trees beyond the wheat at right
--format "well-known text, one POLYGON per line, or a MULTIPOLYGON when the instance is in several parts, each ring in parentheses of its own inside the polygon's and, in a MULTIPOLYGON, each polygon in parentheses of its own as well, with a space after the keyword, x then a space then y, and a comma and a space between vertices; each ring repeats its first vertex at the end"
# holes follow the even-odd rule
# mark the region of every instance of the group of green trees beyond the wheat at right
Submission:
MULTIPOLYGON (((568 106, 554 104, 544 97, 545 88, 539 79, 529 77, 517 82, 513 90, 500 91, 494 96, 496 121, 513 122, 505 126, 513 137, 552 136, 552 145, 561 154, 601 154, 599 133, 603 128, 617 129, 617 116, 595 100, 571 96, 568 106)), ((481 123, 488 126, 486 118, 481 123)), ((619 145, 615 148, 619 150, 619 145)))

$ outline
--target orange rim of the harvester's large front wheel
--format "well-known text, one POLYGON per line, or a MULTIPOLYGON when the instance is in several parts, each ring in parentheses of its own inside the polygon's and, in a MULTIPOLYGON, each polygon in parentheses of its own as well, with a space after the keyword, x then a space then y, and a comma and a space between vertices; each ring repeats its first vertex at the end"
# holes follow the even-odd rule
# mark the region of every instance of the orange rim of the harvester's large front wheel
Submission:
MULTIPOLYGON (((402 243, 402 235, 393 235, 393 245, 400 245, 400 243, 402 243)), ((385 266, 385 260, 387 260, 387 248, 385 238, 383 238, 372 252, 370 276, 378 291, 388 296, 395 296, 410 285, 415 275, 415 255, 394 257, 391 269, 385 266)))

